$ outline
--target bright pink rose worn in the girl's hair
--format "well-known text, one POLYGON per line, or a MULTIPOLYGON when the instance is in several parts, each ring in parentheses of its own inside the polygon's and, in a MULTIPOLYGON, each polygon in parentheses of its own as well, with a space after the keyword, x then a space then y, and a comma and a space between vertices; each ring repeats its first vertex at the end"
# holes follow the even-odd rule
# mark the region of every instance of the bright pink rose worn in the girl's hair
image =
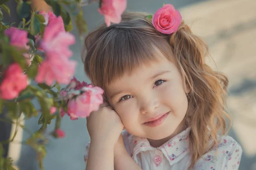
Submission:
POLYGON ((182 17, 171 4, 158 9, 152 17, 152 24, 157 31, 163 34, 172 34, 178 30, 182 17))

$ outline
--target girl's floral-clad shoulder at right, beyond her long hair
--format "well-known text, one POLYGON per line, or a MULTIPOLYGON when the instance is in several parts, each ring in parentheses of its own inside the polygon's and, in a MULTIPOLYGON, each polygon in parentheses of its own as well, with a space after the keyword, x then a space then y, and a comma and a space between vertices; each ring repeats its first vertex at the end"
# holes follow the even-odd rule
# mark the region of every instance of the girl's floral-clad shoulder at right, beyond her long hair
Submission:
POLYGON ((242 148, 231 136, 219 136, 218 147, 198 160, 195 170, 238 170, 242 148))

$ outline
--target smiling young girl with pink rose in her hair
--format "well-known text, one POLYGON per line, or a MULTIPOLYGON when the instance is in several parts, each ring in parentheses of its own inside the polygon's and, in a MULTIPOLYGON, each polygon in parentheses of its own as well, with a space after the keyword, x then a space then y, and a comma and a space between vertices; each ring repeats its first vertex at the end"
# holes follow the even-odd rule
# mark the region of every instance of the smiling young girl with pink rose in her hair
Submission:
POLYGON ((228 80, 172 5, 152 19, 126 12, 92 31, 85 49, 87 77, 105 90, 87 119, 87 170, 238 170, 241 147, 222 136, 228 80))

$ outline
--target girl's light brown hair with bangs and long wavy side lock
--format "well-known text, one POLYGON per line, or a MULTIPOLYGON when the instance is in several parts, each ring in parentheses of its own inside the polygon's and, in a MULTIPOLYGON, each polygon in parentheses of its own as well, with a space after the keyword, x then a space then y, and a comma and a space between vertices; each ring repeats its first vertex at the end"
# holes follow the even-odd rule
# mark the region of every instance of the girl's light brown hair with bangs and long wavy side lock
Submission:
POLYGON ((102 25, 90 32, 82 52, 84 70, 93 85, 104 89, 104 84, 114 82, 124 73, 158 60, 159 51, 174 62, 189 88, 184 119, 186 126, 191 126, 190 169, 204 153, 218 146, 218 133, 226 132, 226 120, 230 121, 225 112, 228 80, 205 63, 207 45, 183 21, 176 32, 166 35, 154 28, 145 18, 147 15, 125 12, 121 23, 102 25))

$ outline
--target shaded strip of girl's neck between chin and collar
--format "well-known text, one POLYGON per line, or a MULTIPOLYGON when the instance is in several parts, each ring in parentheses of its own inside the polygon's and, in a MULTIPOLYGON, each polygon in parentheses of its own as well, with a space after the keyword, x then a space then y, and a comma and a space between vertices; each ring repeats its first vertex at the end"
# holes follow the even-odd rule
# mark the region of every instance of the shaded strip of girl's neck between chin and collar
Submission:
POLYGON ((169 141, 170 139, 172 139, 174 136, 176 136, 177 134, 179 134, 185 129, 186 129, 185 123, 182 121, 180 125, 176 128, 174 133, 172 133, 170 136, 167 136, 166 138, 159 139, 159 140, 148 139, 148 142, 152 147, 160 147, 161 145, 163 145, 164 143, 166 143, 167 141, 169 141))

